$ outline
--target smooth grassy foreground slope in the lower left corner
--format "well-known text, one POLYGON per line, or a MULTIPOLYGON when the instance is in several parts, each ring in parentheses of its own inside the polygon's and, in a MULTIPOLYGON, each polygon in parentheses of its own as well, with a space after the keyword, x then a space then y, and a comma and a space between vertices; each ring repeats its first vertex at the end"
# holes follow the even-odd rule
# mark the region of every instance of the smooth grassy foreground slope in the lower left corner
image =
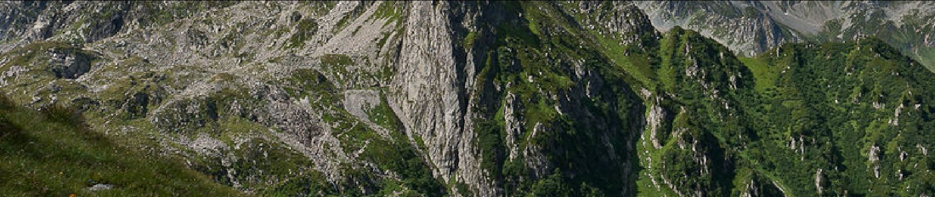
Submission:
POLYGON ((0 193, 12 196, 237 196, 182 163, 115 145, 65 109, 0 98, 0 193), (93 183, 112 190, 89 191, 93 183))

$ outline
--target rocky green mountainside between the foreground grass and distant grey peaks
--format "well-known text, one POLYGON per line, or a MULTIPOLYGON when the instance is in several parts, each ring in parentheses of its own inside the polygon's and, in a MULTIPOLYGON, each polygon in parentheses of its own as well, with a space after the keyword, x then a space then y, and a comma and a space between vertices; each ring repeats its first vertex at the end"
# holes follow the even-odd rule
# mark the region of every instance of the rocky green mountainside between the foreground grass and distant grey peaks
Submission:
MULTIPOLYGON (((218 192, 935 193, 935 78, 874 38, 738 57, 694 31, 658 32, 624 1, 0 7, 13 19, 0 21, 10 103, 73 108, 93 134, 218 192)), ((32 184, 7 175, 0 191, 32 184)), ((16 175, 65 184, 38 195, 107 192, 69 182, 92 173, 16 175)))

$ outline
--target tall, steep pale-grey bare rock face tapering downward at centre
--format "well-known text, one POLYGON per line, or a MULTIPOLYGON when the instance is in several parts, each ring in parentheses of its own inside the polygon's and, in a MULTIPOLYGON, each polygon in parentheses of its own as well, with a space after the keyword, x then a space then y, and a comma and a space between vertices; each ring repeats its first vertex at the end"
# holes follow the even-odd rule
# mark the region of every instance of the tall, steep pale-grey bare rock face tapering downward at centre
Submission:
POLYGON ((479 174, 468 114, 468 78, 464 49, 457 45, 450 2, 411 2, 389 89, 390 106, 410 137, 424 142, 433 174, 466 182, 480 195, 493 195, 479 174), (456 58, 458 57, 458 58, 456 58), (484 185, 482 185, 484 184, 484 185))

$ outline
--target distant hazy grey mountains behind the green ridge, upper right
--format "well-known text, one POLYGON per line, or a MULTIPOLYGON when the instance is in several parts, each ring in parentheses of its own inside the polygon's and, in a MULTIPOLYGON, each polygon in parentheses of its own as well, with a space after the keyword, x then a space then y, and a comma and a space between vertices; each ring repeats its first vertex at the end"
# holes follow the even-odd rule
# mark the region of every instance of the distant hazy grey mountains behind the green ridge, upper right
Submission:
POLYGON ((930 1, 640 1, 655 27, 682 26, 738 54, 787 42, 841 42, 875 36, 935 66, 935 3, 930 1))

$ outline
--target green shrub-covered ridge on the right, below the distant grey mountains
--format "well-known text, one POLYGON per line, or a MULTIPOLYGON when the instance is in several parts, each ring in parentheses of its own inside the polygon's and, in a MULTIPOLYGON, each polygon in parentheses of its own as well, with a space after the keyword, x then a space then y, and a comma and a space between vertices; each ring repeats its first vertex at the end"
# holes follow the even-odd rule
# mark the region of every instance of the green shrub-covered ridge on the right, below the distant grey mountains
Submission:
MULTIPOLYGON (((640 165, 643 167, 641 171, 647 173, 639 175, 638 195, 674 194, 665 186, 660 189, 654 187, 661 185, 662 179, 658 177, 662 176, 683 192, 701 188, 702 192, 715 196, 717 193, 738 195, 749 191, 747 184, 753 182, 754 188, 767 188, 757 192, 768 196, 780 193, 810 196, 817 190, 814 182, 816 171, 823 172, 820 183, 823 195, 889 196, 930 192, 933 182, 926 174, 930 172, 927 166, 931 160, 918 158, 924 154, 910 148, 930 144, 929 134, 920 132, 928 131, 931 125, 930 110, 922 107, 906 112, 907 109, 902 108, 899 126, 886 123, 892 120, 895 106, 928 105, 930 96, 925 93, 919 95, 918 92, 928 92, 923 90, 930 87, 925 82, 930 81, 927 76, 930 73, 918 63, 911 63, 908 58, 900 56, 896 49, 873 40, 829 43, 821 47, 789 44, 782 53, 777 50, 779 54, 735 59, 718 58, 719 50, 723 49, 705 49, 716 45, 699 42, 705 39, 674 39, 679 42, 671 42, 673 36, 665 35, 660 41, 663 52, 657 55, 661 56, 662 66, 654 71, 656 78, 640 78, 653 76, 653 73, 634 73, 632 69, 626 69, 626 73, 649 79, 648 83, 659 83, 657 87, 676 95, 672 99, 678 101, 677 105, 662 106, 678 113, 676 120, 683 117, 677 110, 678 106, 684 106, 688 109, 684 116, 695 123, 676 126, 680 123, 673 122, 671 128, 701 131, 683 134, 679 138, 701 138, 700 144, 708 147, 698 150, 703 152, 701 155, 706 155, 709 161, 713 158, 714 161, 723 159, 731 162, 721 166, 714 164, 718 166, 715 170, 727 169, 721 173, 713 172, 715 176, 686 177, 705 166, 691 162, 691 152, 672 148, 672 140, 664 137, 661 140, 668 143, 662 143, 662 148, 637 146, 640 160, 652 159, 646 162, 649 164, 640 165), (686 43, 691 44, 691 52, 685 48, 686 43), (688 59, 692 61, 686 61, 688 59), (684 63, 698 63, 698 67, 708 73, 707 77, 724 77, 720 74, 722 71, 727 71, 725 74, 728 75, 739 72, 743 69, 732 66, 742 65, 753 78, 748 74, 741 76, 748 76, 746 79, 754 81, 746 83, 752 86, 738 85, 738 90, 730 90, 723 84, 726 78, 704 79, 715 87, 722 84, 715 89, 726 92, 722 96, 733 108, 733 111, 723 110, 720 109, 720 101, 709 99, 708 92, 695 86, 696 81, 683 80, 687 78, 682 76, 684 63), (851 98, 859 98, 859 102, 850 104, 851 98), (886 107, 874 109, 871 103, 881 103, 886 107), (732 116, 725 118, 723 115, 732 116), (788 143, 792 137, 802 138, 799 143, 803 139, 808 140, 808 148, 790 149, 788 143), (882 157, 884 162, 867 162, 871 146, 890 152, 882 157), (905 161, 894 159, 898 158, 899 151, 905 152, 901 153, 907 156, 905 161), (719 157, 717 153, 723 153, 725 157, 719 157), (873 169, 878 166, 879 178, 873 176, 873 169), (899 172, 905 177, 896 176, 899 172), (717 176, 719 174, 734 176, 717 176), (651 181, 649 175, 655 176, 655 181, 651 181), (732 183, 726 184, 730 181, 725 179, 732 183), (773 185, 778 188, 771 188, 773 185)), ((611 45, 601 47, 607 46, 611 45)), ((609 52, 611 56, 619 53, 609 52)), ((653 63, 649 65, 652 67, 653 63)), ((662 132, 657 137, 668 135, 662 132)))

